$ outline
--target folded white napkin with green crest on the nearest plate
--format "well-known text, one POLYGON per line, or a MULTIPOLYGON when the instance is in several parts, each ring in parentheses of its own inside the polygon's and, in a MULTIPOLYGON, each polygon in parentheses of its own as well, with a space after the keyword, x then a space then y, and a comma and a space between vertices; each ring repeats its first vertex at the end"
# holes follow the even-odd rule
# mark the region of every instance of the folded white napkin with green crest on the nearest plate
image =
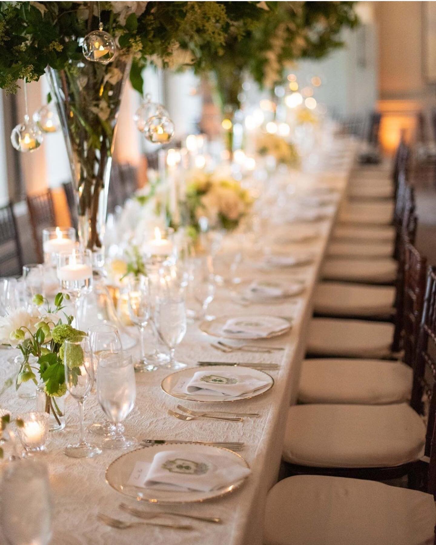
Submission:
POLYGON ((219 454, 172 450, 153 458, 145 487, 209 492, 244 479, 250 469, 219 454))

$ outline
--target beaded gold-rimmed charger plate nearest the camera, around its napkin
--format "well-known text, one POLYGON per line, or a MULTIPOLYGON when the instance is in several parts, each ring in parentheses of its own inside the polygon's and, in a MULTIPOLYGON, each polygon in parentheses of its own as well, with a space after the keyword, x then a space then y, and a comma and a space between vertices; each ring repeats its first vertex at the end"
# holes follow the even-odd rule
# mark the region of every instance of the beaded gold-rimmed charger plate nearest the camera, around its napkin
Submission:
POLYGON ((231 485, 210 490, 209 492, 199 492, 196 490, 156 490, 155 488, 142 488, 126 484, 134 470, 136 462, 151 463, 158 452, 171 450, 186 452, 186 456, 189 456, 189 453, 192 451, 198 452, 198 450, 202 450, 204 454, 227 456, 229 459, 232 459, 243 467, 250 468, 249 464, 247 464, 242 456, 231 450, 216 446, 174 442, 165 445, 150 445, 143 447, 142 449, 124 453, 114 460, 106 469, 106 482, 113 489, 117 490, 117 492, 128 496, 129 498, 148 501, 153 504, 170 505, 188 504, 221 498, 221 496, 229 494, 230 492, 233 492, 233 490, 239 488, 247 479, 247 477, 244 477, 244 479, 239 479, 231 485))

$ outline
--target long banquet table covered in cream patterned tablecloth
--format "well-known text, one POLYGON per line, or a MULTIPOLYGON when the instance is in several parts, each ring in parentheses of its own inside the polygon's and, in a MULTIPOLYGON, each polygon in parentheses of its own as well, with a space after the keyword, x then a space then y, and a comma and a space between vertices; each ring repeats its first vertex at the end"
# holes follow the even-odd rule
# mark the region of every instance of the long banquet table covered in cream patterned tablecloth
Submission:
MULTIPOLYGON (((223 354, 210 346, 213 338, 202 333, 197 325, 190 325, 184 341, 177 349, 181 361, 195 365, 199 360, 262 362, 280 364, 278 371, 270 374, 275 384, 264 395, 238 402, 235 410, 256 411, 258 419, 245 419, 244 422, 221 422, 195 420, 183 422, 167 414, 168 408, 175 408, 177 399, 164 393, 160 384, 169 374, 168 370, 137 374, 137 398, 135 409, 125 422, 126 432, 138 439, 171 438, 183 440, 226 440, 244 441, 245 449, 240 453, 250 464, 252 473, 244 486, 235 492, 213 501, 201 504, 171 506, 171 510, 204 516, 221 517, 223 524, 178 519, 177 522, 193 522, 192 531, 153 528, 142 526, 129 530, 108 528, 98 522, 96 514, 103 512, 124 520, 135 520, 119 511, 120 501, 128 501, 105 482, 105 470, 113 459, 122 452, 104 451, 91 459, 72 459, 63 454, 63 448, 75 439, 78 431, 77 404, 72 398, 66 400, 67 426, 63 432, 51 434, 47 445, 49 453, 45 456, 49 465, 53 491, 53 538, 55 545, 119 545, 123 543, 153 543, 153 545, 259 545, 262 543, 263 506, 265 495, 277 480, 282 452, 282 434, 287 417, 287 407, 296 401, 299 372, 305 350, 307 325, 311 317, 312 295, 320 264, 328 244, 336 212, 343 198, 351 172, 356 145, 350 140, 336 141, 335 153, 343 152, 343 160, 326 162, 325 169, 318 169, 310 175, 313 187, 334 187, 338 192, 334 214, 319 221, 320 236, 304 245, 304 251, 314 255, 314 261, 303 267, 289 269, 262 270, 253 268, 253 263, 244 263, 241 273, 250 278, 262 275, 275 278, 301 278, 306 283, 305 291, 281 304, 256 305, 249 307, 237 304, 229 290, 220 288, 210 306, 210 313, 253 314, 293 317, 292 330, 283 336, 268 340, 268 344, 284 347, 285 350, 272 354, 233 352, 223 354)), ((333 157, 333 155, 331 156, 333 157)), ((307 174, 306 174, 307 176, 307 174)), ((298 225, 287 224, 284 228, 298 229, 298 225)), ((282 251, 301 251, 301 244, 283 247, 282 251)), ((262 344, 262 341, 259 341, 262 344)), ((14 352, 10 349, 0 351, 0 384, 7 377, 7 359, 14 352)), ((198 409, 197 403, 186 404, 198 409)), ((227 405, 227 410, 232 407, 227 405)), ((23 401, 16 397, 14 389, 9 389, 0 398, 0 406, 16 415, 34 409, 34 401, 23 401)), ((212 404, 202 404, 204 409, 216 409, 212 404)), ((226 409, 223 407, 223 409, 226 409)), ((85 404, 86 424, 100 420, 102 416, 96 396, 90 396, 85 404)), ((134 502, 130 501, 133 505, 134 502)), ((148 510, 160 506, 144 504, 148 510)), ((23 518, 25 520, 25 517, 23 518)), ((137 519, 136 519, 137 520, 137 519)))

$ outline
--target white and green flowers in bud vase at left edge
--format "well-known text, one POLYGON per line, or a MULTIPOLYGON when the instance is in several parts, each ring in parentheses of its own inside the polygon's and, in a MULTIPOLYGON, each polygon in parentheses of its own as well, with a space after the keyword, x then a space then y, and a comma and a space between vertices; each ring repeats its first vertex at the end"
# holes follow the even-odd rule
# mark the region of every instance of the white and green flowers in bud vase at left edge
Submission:
MULTIPOLYGON (((52 411, 58 423, 58 416, 63 415, 56 398, 66 393, 64 342, 84 335, 83 331, 71 326, 72 316, 62 312, 65 308, 64 299, 69 299, 69 296, 58 293, 54 299, 54 307, 51 308, 47 299, 37 294, 31 306, 17 308, 0 317, 0 342, 18 348, 23 358, 15 381, 16 389, 28 380, 38 384, 35 373, 38 372, 47 396, 46 412, 52 411), (66 320, 65 323, 61 314, 66 320)), ((9 379, 5 386, 11 385, 12 381, 9 379)))

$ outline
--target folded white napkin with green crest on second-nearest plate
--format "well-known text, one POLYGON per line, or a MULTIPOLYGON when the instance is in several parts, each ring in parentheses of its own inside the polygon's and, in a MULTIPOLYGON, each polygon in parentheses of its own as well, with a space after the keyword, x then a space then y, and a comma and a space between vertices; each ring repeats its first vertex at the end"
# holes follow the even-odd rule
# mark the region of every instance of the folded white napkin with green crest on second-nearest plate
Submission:
POLYGON ((217 396, 242 396, 269 384, 269 380, 253 377, 249 371, 197 371, 183 386, 184 393, 217 396))

